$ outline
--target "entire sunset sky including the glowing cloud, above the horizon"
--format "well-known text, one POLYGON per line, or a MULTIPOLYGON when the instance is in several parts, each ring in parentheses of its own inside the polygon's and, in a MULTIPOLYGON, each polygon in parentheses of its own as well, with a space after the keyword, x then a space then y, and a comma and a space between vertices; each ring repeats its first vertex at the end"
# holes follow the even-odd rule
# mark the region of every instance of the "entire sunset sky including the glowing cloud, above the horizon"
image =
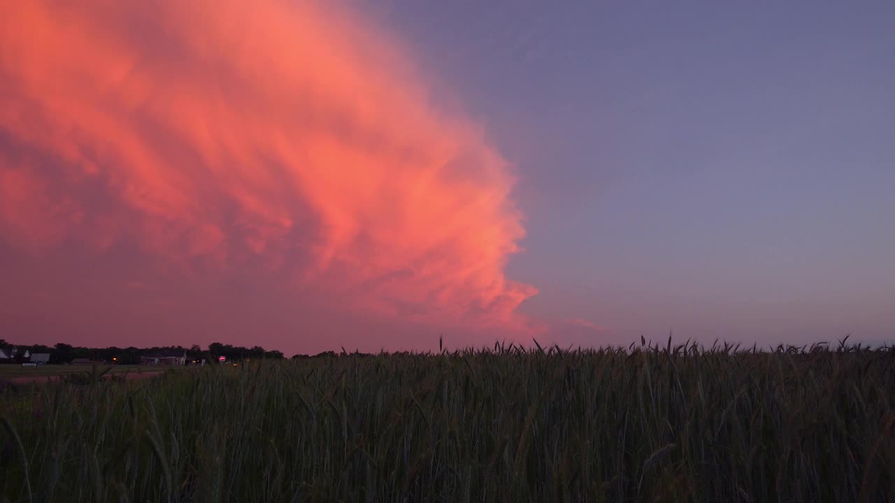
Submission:
POLYGON ((0 338, 895 340, 892 19, 6 5, 0 338))

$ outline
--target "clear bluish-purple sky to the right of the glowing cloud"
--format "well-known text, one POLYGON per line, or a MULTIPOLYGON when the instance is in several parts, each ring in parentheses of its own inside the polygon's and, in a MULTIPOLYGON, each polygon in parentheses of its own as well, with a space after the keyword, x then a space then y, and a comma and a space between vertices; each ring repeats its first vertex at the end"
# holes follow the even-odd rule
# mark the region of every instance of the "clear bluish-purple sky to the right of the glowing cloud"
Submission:
POLYGON ((895 4, 358 5, 516 166, 523 311, 893 337, 895 4))

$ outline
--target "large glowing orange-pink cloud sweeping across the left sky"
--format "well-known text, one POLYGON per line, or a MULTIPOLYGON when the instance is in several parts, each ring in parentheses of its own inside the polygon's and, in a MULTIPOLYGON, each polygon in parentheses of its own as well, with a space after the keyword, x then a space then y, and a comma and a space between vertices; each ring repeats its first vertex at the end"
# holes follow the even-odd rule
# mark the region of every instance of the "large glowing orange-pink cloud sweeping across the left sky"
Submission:
POLYGON ((399 44, 316 2, 0 17, 0 237, 282 271, 356 311, 519 328, 506 161, 399 44))

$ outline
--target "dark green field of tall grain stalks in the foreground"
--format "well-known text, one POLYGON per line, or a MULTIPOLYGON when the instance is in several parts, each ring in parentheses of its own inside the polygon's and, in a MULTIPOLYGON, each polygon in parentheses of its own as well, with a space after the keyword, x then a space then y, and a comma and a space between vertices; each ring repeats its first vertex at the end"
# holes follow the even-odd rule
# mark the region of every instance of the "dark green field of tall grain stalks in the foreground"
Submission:
POLYGON ((10 501, 895 501, 892 349, 349 354, 0 411, 10 501))

